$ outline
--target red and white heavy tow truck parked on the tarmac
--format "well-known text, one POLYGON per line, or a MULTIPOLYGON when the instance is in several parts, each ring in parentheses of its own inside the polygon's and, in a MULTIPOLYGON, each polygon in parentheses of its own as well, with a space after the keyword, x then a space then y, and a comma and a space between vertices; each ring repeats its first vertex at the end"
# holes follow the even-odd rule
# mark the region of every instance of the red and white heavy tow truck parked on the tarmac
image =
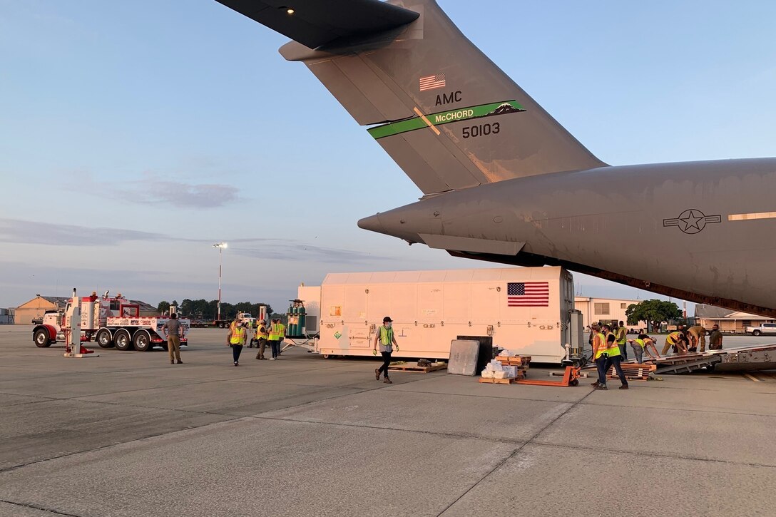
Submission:
MULTIPOLYGON (((116 346, 119 350, 134 348, 140 352, 153 346, 167 346, 162 327, 166 316, 140 316, 140 306, 130 303, 121 294, 116 297, 81 297, 81 342, 95 341, 103 349, 116 346)), ((33 342, 39 348, 56 342, 67 342, 71 328, 69 311, 72 300, 64 311, 47 311, 43 322, 33 327, 33 342)), ((188 344, 189 320, 181 318, 181 345, 188 344)))

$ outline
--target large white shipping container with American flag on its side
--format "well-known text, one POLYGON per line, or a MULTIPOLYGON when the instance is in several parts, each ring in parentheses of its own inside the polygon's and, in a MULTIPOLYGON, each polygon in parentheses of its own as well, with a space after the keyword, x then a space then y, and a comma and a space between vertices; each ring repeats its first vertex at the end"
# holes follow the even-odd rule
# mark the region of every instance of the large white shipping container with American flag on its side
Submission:
POLYGON ((452 340, 471 337, 539 363, 591 356, 573 278, 559 267, 330 273, 298 297, 324 356, 372 355, 385 316, 401 357, 449 359, 452 340))

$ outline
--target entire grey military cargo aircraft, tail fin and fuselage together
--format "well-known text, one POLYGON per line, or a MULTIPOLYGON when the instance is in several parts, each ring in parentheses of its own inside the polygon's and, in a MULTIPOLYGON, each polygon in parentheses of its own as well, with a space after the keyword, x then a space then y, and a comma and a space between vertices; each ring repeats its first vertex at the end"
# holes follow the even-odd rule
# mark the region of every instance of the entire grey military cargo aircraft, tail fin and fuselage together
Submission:
POLYGON ((776 317, 776 158, 609 166, 434 0, 217 1, 294 40, 424 193, 359 227, 776 317))

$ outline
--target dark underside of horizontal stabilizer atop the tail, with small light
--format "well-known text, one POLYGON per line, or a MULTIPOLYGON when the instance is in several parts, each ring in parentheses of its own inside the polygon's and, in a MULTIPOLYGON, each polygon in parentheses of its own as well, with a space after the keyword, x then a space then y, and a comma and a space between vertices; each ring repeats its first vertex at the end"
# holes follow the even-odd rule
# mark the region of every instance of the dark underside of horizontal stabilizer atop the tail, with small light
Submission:
POLYGON ((379 0, 216 1, 310 48, 342 37, 380 33, 419 16, 379 0))

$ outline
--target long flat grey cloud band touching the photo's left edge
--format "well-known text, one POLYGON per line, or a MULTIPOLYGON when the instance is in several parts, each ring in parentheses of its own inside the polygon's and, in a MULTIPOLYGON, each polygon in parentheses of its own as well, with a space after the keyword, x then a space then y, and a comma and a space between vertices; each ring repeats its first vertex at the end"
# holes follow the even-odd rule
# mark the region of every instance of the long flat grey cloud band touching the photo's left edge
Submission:
POLYGON ((40 223, 0 218, 0 242, 53 246, 115 246, 125 241, 162 241, 168 237, 147 231, 90 228, 74 224, 40 223))

